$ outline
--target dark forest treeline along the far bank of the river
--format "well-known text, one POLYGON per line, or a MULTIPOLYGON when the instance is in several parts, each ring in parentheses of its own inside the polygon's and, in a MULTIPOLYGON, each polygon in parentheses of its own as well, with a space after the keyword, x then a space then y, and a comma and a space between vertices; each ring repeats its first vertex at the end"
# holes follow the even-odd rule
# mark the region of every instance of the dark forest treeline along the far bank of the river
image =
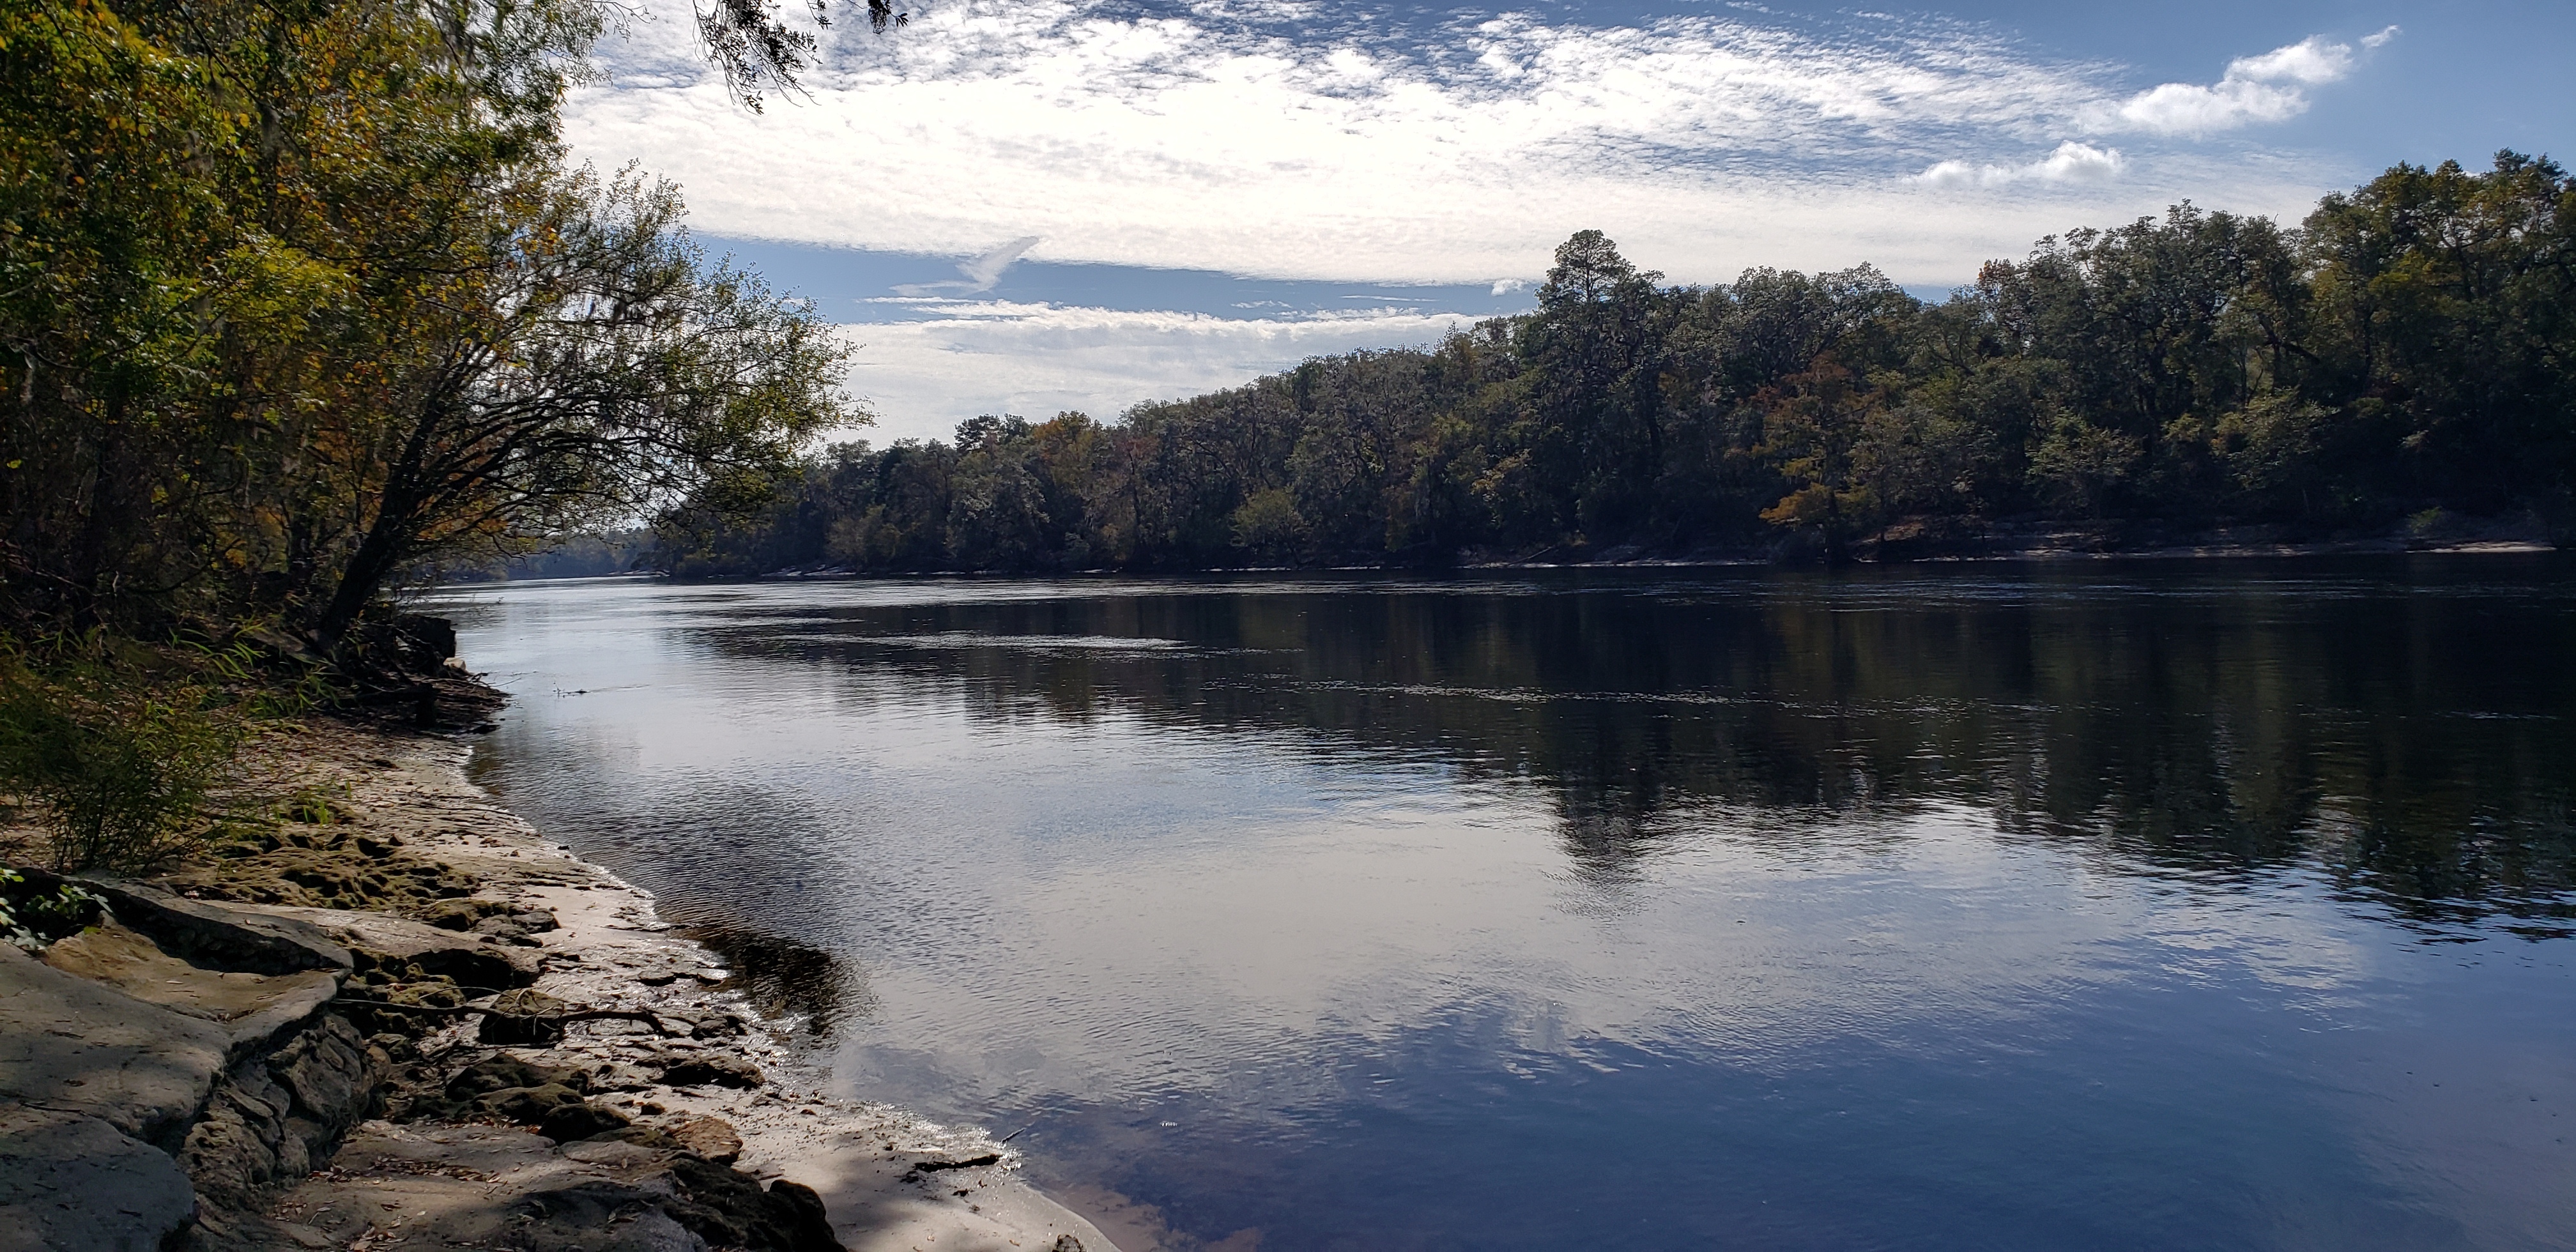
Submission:
POLYGON ((1901 554, 2074 523, 2576 523, 2576 180, 2398 165, 2287 229, 2190 204, 1942 304, 1878 270, 1662 286, 1600 232, 1538 309, 1118 422, 842 443, 657 526, 677 574, 1901 554))

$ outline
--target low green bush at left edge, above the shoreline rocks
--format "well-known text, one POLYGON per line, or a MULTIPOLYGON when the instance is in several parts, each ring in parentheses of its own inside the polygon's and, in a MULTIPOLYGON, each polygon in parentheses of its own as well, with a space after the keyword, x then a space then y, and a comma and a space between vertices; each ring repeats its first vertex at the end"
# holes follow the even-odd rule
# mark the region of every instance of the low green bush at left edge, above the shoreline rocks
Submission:
POLYGON ((0 788, 36 801, 57 868, 139 868, 206 830, 263 711, 237 662, 98 636, 0 641, 0 788))

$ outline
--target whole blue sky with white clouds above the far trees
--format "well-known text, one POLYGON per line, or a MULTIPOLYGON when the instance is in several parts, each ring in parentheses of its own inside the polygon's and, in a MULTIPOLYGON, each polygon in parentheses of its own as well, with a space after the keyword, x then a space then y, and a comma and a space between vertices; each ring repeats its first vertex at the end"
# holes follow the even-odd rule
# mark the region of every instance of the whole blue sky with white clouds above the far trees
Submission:
POLYGON ((1427 343, 1584 227, 1672 281, 1937 294, 2179 198, 2295 219, 2396 160, 2576 147, 2566 3, 927 0, 822 41, 750 113, 662 5, 569 137, 848 322, 878 441, 1427 343))

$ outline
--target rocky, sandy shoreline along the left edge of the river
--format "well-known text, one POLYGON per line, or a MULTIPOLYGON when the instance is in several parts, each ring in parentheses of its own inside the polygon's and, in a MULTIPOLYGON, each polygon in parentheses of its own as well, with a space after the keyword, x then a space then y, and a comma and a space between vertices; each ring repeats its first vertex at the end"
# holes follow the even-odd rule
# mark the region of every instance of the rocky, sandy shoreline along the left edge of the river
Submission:
POLYGON ((273 832, 0 945, 0 1252, 1108 1249, 979 1128, 835 1100, 456 739, 314 724, 273 832))

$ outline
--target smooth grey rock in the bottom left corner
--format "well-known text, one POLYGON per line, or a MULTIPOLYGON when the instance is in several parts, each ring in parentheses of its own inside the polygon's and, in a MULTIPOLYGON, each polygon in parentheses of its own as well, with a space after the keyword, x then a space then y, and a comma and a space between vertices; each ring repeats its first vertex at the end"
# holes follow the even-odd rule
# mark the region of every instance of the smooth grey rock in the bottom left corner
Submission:
POLYGON ((0 1105, 0 1252, 152 1252, 193 1219, 170 1154, 98 1118, 0 1105))

